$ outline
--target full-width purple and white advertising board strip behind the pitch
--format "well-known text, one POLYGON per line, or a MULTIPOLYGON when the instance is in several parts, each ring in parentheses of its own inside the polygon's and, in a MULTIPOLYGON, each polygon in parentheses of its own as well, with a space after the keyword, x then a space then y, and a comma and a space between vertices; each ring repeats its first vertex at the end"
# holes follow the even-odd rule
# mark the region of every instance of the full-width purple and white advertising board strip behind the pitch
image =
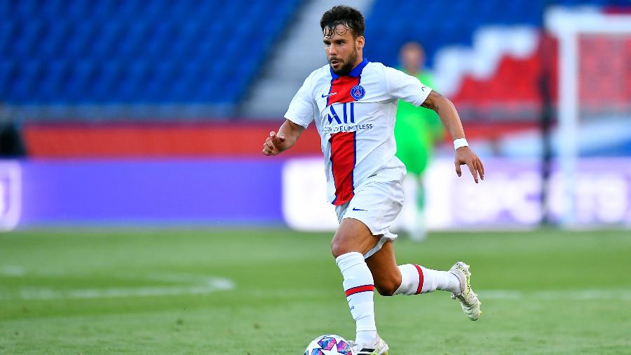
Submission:
MULTIPOLYGON (((534 227, 541 221, 536 161, 485 159, 486 177, 457 178, 450 159, 426 174, 428 227, 534 227)), ((15 227, 282 226, 330 230, 321 158, 0 161, 0 230, 15 227)), ((564 211, 553 169, 552 221, 564 211)), ((631 227, 631 159, 583 159, 571 189, 576 227, 631 227)))

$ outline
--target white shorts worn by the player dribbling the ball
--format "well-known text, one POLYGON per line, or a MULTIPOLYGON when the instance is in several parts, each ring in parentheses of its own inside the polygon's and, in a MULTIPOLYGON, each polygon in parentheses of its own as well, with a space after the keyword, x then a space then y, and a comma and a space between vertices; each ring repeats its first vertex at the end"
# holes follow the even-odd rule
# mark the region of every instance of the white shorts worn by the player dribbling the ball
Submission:
POLYGON ((364 254, 370 257, 384 246, 386 241, 395 241, 397 235, 390 227, 403 206, 403 185, 400 181, 367 182, 355 190, 351 201, 335 206, 337 220, 344 218, 360 220, 374 236, 381 236, 374 248, 364 254))

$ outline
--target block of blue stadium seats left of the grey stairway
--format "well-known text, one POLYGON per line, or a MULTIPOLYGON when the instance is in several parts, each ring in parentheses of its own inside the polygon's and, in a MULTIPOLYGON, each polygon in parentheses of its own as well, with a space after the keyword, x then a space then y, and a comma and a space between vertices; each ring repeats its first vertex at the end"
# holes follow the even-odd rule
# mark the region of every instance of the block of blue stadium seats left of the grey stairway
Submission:
POLYGON ((234 104, 299 2, 0 1, 0 100, 234 104))

